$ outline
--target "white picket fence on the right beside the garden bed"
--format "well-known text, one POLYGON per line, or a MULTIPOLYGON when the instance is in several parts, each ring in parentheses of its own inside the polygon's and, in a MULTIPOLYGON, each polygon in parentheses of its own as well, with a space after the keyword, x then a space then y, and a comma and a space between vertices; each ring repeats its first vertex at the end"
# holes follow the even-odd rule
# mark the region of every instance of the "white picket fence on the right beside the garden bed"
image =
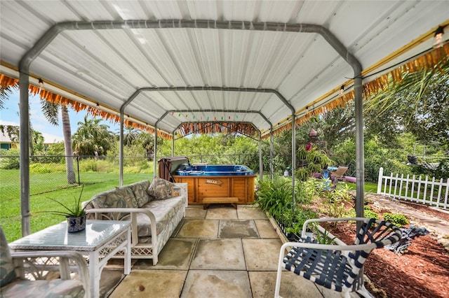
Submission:
POLYGON ((435 177, 429 180, 428 176, 425 177, 425 180, 422 180, 421 176, 415 178, 415 175, 412 178, 410 175, 407 175, 406 178, 403 175, 399 177, 398 173, 395 176, 393 173, 390 173, 390 176, 384 176, 384 169, 379 169, 377 194, 449 209, 448 192, 449 178, 444 182, 443 178, 435 181, 435 177))

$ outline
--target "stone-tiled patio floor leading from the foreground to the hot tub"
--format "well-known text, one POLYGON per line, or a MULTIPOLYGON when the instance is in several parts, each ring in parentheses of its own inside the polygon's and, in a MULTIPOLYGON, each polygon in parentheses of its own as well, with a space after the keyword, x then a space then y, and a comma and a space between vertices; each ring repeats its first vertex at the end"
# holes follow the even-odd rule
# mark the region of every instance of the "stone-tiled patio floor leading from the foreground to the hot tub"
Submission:
MULTIPOLYGON (((100 297, 274 297, 281 245, 267 216, 253 205, 188 206, 156 266, 133 260, 124 276, 123 260, 109 261, 100 297)), ((340 297, 282 274, 283 297, 340 297)))

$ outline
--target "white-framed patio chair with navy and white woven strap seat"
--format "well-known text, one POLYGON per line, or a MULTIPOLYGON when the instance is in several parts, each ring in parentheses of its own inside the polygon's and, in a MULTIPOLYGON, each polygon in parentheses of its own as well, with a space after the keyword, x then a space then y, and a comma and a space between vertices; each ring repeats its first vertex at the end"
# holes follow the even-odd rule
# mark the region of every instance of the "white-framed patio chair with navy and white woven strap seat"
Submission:
POLYGON ((285 268, 330 290, 342 292, 349 297, 363 285, 358 285, 363 274, 363 264, 371 251, 382 248, 401 239, 401 231, 383 220, 371 218, 319 218, 304 222, 299 242, 284 243, 279 253, 278 272, 274 297, 279 296, 281 273, 285 268), (336 221, 361 222, 361 229, 353 245, 325 245, 306 236, 307 225, 311 222, 336 221), (290 251, 285 255, 286 248, 290 251), (284 257, 285 255, 285 257, 284 257))

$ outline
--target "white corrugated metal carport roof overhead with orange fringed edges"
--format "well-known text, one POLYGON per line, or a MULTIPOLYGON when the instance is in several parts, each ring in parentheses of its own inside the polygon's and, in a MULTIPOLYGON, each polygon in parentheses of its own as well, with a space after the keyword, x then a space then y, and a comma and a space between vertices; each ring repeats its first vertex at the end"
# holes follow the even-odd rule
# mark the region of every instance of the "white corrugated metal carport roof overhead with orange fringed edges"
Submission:
POLYGON ((168 138, 212 120, 268 136, 340 86, 352 92, 356 77, 363 152, 358 73, 367 83, 432 48, 448 11, 449 1, 1 1, 1 73, 168 138))

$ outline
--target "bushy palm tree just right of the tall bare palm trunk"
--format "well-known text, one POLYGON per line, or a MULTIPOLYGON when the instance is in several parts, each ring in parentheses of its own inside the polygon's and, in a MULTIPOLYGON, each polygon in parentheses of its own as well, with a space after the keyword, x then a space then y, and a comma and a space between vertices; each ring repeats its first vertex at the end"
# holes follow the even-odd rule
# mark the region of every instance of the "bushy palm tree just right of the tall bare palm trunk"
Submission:
POLYGON ((76 155, 107 155, 107 150, 114 146, 114 134, 109 126, 100 125, 101 118, 88 119, 78 122, 78 129, 73 136, 73 146, 76 155))

